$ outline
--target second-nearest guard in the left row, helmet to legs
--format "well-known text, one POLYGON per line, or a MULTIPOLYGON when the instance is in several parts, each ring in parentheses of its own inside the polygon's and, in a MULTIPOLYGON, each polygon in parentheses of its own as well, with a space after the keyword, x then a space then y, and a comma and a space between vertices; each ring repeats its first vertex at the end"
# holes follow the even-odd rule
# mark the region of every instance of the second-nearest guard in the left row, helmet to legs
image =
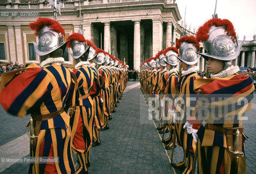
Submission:
POLYGON ((72 49, 71 56, 75 59, 76 65, 73 70, 77 78, 77 97, 75 113, 71 115, 72 126, 72 150, 77 154, 80 164, 76 173, 87 173, 88 152, 92 146, 94 107, 90 90, 93 88, 94 76, 88 67, 90 64, 88 54, 90 46, 82 34, 74 33, 68 37, 68 47, 72 49))

